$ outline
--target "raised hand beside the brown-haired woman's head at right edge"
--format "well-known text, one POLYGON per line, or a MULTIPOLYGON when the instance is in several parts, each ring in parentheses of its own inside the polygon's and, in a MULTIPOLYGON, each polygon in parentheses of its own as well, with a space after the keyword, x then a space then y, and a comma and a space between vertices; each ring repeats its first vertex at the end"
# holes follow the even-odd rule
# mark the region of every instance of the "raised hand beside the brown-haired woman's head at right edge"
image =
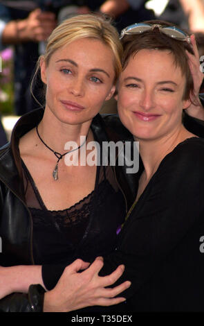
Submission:
POLYGON ((204 108, 198 96, 204 75, 200 71, 199 53, 194 35, 191 35, 191 42, 194 50, 194 55, 187 51, 187 56, 189 58, 189 69, 194 80, 194 92, 191 94, 192 104, 189 106, 189 108, 186 109, 186 112, 191 117, 204 120, 204 108))

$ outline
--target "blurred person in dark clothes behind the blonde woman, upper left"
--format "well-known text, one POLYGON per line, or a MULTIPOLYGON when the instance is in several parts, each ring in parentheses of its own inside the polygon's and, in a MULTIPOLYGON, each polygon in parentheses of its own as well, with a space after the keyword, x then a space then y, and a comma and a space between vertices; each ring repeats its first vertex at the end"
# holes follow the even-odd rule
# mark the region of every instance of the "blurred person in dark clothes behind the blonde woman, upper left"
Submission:
MULTIPOLYGON (((89 2, 89 1, 87 1, 89 2)), ((91 2, 91 1, 90 1, 91 2)), ((94 1, 98 7, 102 1, 94 1)), ((32 0, 0 1, 0 51, 14 46, 15 108, 17 116, 39 107, 30 96, 29 83, 44 42, 58 22, 73 14, 89 12, 85 1, 32 0)), ((41 89, 39 80, 35 94, 41 89)))

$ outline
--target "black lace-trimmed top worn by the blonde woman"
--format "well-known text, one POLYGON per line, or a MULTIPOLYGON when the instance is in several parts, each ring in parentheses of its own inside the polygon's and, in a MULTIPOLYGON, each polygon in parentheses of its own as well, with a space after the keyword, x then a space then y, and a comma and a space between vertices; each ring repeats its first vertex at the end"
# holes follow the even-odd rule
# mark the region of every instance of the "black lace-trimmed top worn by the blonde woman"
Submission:
POLYGON ((111 166, 98 166, 91 194, 60 211, 46 208, 23 161, 22 166, 26 202, 33 218, 35 264, 69 264, 76 258, 91 261, 114 249, 125 201, 111 166))

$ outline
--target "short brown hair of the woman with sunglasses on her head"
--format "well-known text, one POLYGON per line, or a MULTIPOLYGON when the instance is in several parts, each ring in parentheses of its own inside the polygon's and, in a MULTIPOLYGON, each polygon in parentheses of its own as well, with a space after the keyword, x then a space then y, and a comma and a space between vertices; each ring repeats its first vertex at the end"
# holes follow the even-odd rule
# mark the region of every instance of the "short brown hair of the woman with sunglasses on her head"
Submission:
MULTIPOLYGON (((161 20, 150 20, 143 22, 144 24, 159 24, 161 26, 172 26, 169 22, 161 20)), ((174 25, 175 26, 175 25, 174 25)), ((177 27, 177 26, 176 26, 177 27)), ((180 27, 178 27, 180 29, 180 27)), ((186 31, 184 31, 187 33, 186 31)), ((183 76, 186 78, 185 92, 183 94, 183 100, 190 98, 190 93, 194 89, 194 82, 191 71, 188 65, 188 57, 186 50, 189 53, 194 54, 192 46, 184 41, 175 40, 172 37, 161 33, 159 28, 154 28, 149 31, 145 31, 141 34, 129 34, 124 35, 121 40, 124 49, 122 58, 122 69, 127 67, 129 58, 132 55, 136 55, 138 51, 143 49, 158 49, 159 51, 168 51, 174 55, 174 63, 176 67, 180 67, 183 76)))

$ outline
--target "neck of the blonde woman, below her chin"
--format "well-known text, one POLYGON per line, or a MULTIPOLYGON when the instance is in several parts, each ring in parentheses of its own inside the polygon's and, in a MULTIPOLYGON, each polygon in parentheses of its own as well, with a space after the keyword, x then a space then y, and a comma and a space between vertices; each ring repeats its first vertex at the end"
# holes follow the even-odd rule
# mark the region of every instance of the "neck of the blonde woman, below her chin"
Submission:
POLYGON ((80 137, 85 136, 86 141, 92 140, 92 132, 89 132, 91 120, 77 125, 71 125, 59 121, 52 112, 45 110, 44 117, 39 123, 38 131, 41 139, 53 151, 61 154, 66 153, 64 149, 68 141, 75 141, 77 146, 80 146, 80 137), (89 139, 88 139, 89 138, 89 139))

